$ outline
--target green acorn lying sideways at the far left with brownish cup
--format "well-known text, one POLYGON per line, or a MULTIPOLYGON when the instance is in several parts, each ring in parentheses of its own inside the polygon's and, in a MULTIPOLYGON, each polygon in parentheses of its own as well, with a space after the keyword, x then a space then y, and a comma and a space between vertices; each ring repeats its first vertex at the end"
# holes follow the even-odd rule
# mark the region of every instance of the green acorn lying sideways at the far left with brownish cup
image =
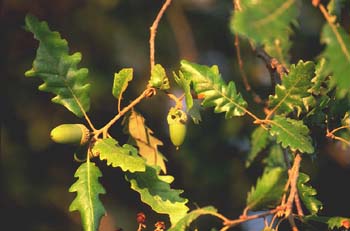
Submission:
POLYGON ((52 129, 51 139, 60 144, 84 145, 90 139, 90 131, 84 124, 61 124, 52 129))

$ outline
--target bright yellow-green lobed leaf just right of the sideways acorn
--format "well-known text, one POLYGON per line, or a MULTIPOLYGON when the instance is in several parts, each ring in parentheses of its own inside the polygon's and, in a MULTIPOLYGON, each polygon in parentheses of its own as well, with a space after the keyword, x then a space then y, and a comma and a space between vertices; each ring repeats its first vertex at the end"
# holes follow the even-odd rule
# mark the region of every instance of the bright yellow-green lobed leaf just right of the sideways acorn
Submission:
POLYGON ((146 170, 145 160, 137 155, 137 149, 129 144, 119 146, 113 138, 97 140, 92 148, 93 153, 98 153, 101 160, 106 160, 107 165, 120 167, 124 172, 142 172, 146 170))

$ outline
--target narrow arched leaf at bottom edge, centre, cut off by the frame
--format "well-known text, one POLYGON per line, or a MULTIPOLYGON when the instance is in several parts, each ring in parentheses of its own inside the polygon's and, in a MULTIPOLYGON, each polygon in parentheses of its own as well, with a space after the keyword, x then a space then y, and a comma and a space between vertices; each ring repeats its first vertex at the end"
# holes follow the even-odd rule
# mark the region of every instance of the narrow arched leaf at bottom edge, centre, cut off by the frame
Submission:
POLYGON ((187 213, 176 224, 173 224, 172 227, 168 229, 168 231, 186 231, 186 228, 188 228, 190 224, 198 217, 203 215, 210 215, 213 213, 217 213, 217 209, 212 206, 193 210, 190 213, 187 213))

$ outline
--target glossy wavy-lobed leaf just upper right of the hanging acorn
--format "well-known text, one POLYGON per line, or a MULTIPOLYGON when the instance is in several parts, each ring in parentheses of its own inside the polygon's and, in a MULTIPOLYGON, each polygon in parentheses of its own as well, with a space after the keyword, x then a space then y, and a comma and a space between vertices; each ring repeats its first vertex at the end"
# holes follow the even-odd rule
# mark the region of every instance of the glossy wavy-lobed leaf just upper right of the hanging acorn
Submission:
POLYGON ((217 66, 204 66, 181 61, 181 72, 193 83, 193 89, 204 97, 204 107, 214 107, 214 112, 225 112, 225 118, 242 116, 246 112, 247 102, 237 92, 234 82, 228 85, 221 78, 217 66))

